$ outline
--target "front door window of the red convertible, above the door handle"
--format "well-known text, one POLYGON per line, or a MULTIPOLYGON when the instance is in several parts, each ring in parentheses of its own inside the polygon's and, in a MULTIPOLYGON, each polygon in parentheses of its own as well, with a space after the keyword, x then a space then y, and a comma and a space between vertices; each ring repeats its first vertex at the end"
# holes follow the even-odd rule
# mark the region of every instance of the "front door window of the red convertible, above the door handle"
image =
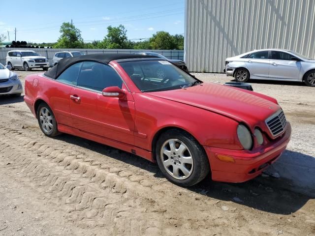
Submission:
POLYGON ((116 71, 109 65, 94 62, 83 62, 77 86, 102 91, 111 86, 122 89, 123 81, 116 71))

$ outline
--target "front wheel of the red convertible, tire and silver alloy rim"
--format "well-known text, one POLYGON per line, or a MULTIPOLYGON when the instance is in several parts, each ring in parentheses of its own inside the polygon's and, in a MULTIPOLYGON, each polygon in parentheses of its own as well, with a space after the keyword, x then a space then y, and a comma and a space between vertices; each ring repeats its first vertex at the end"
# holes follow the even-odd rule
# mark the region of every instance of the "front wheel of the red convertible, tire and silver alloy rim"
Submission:
POLYGON ((205 151, 185 131, 171 129, 162 133, 158 138, 155 153, 160 171, 177 185, 192 186, 210 172, 205 151))

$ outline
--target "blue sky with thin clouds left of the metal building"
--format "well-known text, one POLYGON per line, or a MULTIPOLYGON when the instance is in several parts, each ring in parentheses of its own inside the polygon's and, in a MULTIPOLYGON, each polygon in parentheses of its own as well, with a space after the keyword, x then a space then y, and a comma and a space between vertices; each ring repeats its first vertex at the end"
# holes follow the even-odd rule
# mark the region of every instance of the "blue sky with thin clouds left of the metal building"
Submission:
POLYGON ((9 31, 10 40, 16 28, 16 40, 56 42, 61 24, 71 19, 86 42, 102 40, 109 25, 124 25, 133 41, 161 30, 184 33, 185 0, 14 0, 13 8, 1 5, 0 34, 9 31))

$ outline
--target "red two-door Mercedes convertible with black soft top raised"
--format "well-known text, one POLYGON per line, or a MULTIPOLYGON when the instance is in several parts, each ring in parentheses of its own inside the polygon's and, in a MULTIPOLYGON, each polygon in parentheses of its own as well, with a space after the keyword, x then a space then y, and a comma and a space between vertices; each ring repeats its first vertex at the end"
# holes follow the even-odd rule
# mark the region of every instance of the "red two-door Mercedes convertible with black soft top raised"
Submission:
POLYGON ((269 96, 203 83, 171 62, 143 55, 62 59, 25 81, 42 132, 68 133, 157 162, 191 186, 258 176, 286 148, 290 123, 269 96))

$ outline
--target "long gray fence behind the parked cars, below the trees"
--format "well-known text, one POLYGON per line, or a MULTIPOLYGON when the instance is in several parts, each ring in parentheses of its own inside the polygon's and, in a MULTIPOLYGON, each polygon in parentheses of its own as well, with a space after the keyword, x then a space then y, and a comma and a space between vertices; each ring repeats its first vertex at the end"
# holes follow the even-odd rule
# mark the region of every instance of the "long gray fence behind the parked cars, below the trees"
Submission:
POLYGON ((38 53, 39 55, 46 57, 50 64, 52 65, 53 57, 55 53, 62 52, 62 51, 81 51, 86 54, 96 54, 96 53, 135 53, 135 52, 155 52, 158 54, 163 55, 168 59, 184 59, 184 50, 134 50, 134 49, 56 49, 56 48, 0 48, 0 63, 3 65, 5 64, 5 58, 8 51, 11 50, 32 50, 38 53))

